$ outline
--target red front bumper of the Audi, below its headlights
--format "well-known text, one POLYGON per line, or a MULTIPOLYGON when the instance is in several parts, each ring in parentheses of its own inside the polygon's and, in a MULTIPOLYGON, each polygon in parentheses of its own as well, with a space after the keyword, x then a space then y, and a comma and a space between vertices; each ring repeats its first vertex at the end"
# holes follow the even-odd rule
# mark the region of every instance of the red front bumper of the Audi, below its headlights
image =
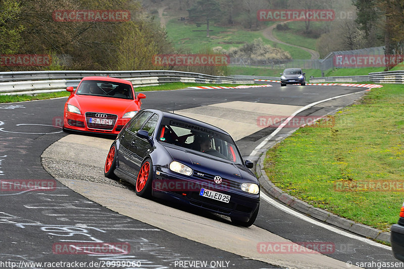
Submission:
POLYGON ((91 132, 91 133, 101 133, 101 134, 119 134, 125 124, 130 121, 130 119, 118 118, 110 130, 101 130, 89 128, 84 115, 65 112, 63 119, 63 127, 68 130, 80 131, 80 132, 91 132))

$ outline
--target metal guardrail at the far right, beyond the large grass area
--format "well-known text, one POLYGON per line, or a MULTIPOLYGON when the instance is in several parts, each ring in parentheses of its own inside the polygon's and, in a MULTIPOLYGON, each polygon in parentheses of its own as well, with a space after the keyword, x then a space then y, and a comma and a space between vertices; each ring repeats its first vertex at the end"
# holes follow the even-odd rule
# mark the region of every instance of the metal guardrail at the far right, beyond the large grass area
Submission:
POLYGON ((404 70, 373 72, 365 76, 340 76, 340 77, 318 77, 310 78, 311 83, 319 82, 362 82, 371 81, 375 83, 404 84, 404 70))

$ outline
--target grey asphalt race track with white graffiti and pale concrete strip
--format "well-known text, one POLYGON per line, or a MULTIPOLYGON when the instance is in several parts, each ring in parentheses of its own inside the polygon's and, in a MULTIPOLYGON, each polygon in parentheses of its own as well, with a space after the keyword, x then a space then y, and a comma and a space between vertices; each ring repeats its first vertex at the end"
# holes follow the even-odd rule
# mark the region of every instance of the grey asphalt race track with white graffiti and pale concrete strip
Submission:
MULTIPOLYGON (((358 92, 320 103, 298 115, 322 116, 354 102, 364 92, 355 87, 271 84, 273 87, 145 92, 147 98, 142 108, 174 109, 176 113, 213 123, 237 140, 246 157, 275 130, 260 124, 260 117, 287 117, 312 102, 358 92)), ((347 261, 398 261, 389 247, 306 222, 264 199, 255 225, 241 228, 215 214, 141 199, 119 182, 106 184, 101 173, 113 140, 64 133, 57 126, 65 102, 66 98, 59 98, 0 104, 2 187, 5 180, 56 184, 52 191, 1 189, 1 268, 11 268, 10 263, 2 263, 6 261, 16 262, 20 268, 51 267, 23 262, 59 261, 87 262, 81 267, 88 268, 107 267, 106 261, 117 260, 138 261, 141 268, 203 267, 199 266, 203 263, 185 261, 206 261, 204 267, 208 268, 348 268, 347 261), (331 242, 335 251, 325 255, 262 254, 257 249, 257 242, 286 240, 331 242), (126 244, 130 251, 121 255, 57 254, 55 248, 69 242, 126 244), (94 266, 94 262, 105 263, 94 266)), ((294 129, 282 129, 273 140, 294 129)))

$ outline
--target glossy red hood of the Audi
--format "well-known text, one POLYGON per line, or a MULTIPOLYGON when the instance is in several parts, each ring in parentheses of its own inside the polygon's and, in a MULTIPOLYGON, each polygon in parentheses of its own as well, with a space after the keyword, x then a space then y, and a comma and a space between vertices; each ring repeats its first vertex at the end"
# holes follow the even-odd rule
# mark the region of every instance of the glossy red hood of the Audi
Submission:
POLYGON ((119 118, 126 112, 140 109, 135 100, 103 96, 74 95, 68 103, 77 106, 82 114, 86 112, 110 113, 117 114, 119 118))

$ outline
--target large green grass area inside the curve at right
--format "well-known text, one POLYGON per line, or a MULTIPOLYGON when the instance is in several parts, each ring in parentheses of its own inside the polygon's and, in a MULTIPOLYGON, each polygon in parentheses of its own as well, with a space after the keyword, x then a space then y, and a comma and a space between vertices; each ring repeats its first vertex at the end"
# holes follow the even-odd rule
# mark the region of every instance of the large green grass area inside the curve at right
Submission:
POLYGON ((335 115, 334 126, 300 128, 267 152, 265 171, 285 192, 384 231, 402 191, 339 191, 339 184, 404 182, 404 86, 384 84, 335 115))

